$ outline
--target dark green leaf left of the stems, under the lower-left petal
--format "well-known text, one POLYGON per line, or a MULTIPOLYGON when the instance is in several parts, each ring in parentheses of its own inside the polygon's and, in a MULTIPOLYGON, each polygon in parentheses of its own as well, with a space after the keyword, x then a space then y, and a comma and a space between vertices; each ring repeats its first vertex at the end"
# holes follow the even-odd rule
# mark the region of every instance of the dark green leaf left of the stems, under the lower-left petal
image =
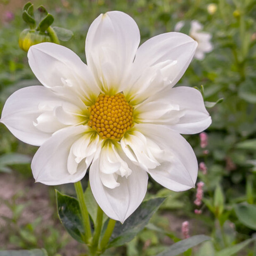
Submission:
POLYGON ((77 199, 61 194, 58 190, 55 190, 55 194, 60 221, 71 237, 78 242, 84 243, 82 216, 77 199))

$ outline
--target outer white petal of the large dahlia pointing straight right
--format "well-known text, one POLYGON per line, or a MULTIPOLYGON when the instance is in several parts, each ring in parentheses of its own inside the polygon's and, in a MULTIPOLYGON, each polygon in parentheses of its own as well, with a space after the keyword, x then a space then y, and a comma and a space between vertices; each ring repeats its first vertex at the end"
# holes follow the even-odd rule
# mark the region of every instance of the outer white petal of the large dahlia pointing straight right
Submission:
POLYGON ((166 88, 135 109, 142 123, 164 124, 178 133, 199 133, 211 124, 201 93, 190 87, 166 88))

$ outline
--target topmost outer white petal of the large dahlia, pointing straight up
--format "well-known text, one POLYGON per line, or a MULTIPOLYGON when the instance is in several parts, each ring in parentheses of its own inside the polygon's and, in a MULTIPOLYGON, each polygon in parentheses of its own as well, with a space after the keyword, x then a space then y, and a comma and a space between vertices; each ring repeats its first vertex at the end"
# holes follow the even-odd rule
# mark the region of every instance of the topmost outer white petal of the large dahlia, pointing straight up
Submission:
POLYGON ((130 69, 139 43, 139 28, 128 14, 107 12, 92 22, 85 41, 85 53, 88 66, 102 90, 119 92, 121 80, 130 69))

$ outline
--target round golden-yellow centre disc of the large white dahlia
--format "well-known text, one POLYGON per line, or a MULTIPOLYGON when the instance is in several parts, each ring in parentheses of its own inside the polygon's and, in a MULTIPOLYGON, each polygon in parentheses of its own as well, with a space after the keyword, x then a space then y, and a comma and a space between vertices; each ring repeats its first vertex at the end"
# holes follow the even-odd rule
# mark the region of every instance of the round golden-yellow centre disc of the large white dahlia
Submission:
POLYGON ((122 93, 100 94, 89 107, 88 126, 96 130, 102 139, 121 140, 124 133, 133 127, 133 107, 122 93))

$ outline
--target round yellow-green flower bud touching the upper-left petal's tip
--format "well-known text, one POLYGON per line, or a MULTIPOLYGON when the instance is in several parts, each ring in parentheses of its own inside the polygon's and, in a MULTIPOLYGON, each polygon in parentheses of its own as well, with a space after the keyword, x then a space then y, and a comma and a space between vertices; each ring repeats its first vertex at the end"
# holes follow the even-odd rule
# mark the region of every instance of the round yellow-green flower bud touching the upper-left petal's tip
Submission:
POLYGON ((24 29, 19 35, 19 47, 25 52, 28 51, 31 45, 36 45, 43 42, 52 42, 52 39, 47 33, 40 31, 24 29))

